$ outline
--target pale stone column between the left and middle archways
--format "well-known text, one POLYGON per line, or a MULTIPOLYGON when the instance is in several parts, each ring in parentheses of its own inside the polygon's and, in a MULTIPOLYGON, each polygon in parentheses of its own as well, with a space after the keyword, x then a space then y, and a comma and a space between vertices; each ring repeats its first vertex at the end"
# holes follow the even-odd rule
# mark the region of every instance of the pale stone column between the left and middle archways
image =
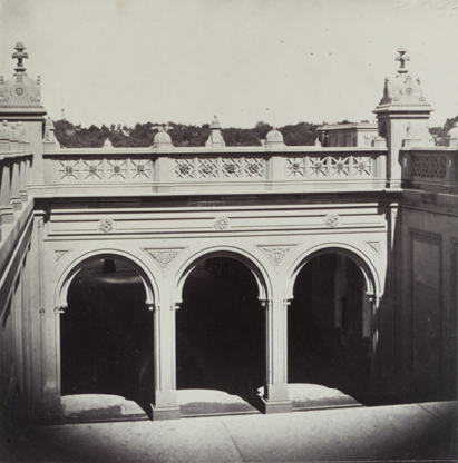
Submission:
POLYGON ((156 303, 154 311, 155 385, 153 420, 181 417, 176 401, 175 311, 172 302, 156 303))

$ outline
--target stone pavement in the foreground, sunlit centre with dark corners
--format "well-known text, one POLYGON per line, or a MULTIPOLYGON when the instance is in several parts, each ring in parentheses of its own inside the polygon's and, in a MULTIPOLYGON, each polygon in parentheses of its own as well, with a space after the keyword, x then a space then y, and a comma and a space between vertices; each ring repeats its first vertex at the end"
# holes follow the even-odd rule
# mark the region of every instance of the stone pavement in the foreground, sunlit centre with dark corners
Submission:
POLYGON ((455 462, 457 404, 30 428, 3 425, 0 462, 455 462))

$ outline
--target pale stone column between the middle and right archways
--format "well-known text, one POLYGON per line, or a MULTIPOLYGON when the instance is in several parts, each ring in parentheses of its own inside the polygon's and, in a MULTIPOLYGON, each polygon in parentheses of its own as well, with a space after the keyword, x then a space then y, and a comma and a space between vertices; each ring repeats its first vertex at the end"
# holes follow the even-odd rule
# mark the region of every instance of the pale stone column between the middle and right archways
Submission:
MULTIPOLYGON (((280 292, 279 292, 280 293, 280 292)), ((288 299, 274 297, 265 301, 266 381, 263 402, 264 413, 292 411, 288 392, 288 299)))

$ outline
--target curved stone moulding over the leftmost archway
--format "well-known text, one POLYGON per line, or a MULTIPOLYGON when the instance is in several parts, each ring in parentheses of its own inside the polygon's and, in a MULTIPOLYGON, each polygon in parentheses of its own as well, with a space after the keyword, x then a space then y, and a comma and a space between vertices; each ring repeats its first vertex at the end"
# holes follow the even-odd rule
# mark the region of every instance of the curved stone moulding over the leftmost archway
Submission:
POLYGON ((68 288, 77 273, 90 260, 94 259, 106 259, 116 258, 124 260, 126 264, 131 266, 142 278, 145 286, 146 301, 145 304, 153 306, 159 298, 158 287, 156 280, 152 275, 148 267, 136 256, 119 250, 119 249, 97 249, 86 253, 78 258, 74 259, 67 268, 61 273, 59 280, 56 286, 55 293, 55 305, 56 307, 67 306, 67 294, 68 288))

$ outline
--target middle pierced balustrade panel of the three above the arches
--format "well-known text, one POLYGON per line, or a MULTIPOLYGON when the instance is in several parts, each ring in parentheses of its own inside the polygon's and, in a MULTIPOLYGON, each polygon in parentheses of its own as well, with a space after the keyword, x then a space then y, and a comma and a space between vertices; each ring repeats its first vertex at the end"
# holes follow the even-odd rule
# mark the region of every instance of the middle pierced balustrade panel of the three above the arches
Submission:
POLYGON ((175 178, 179 180, 265 179, 262 157, 195 157, 175 159, 175 178))

